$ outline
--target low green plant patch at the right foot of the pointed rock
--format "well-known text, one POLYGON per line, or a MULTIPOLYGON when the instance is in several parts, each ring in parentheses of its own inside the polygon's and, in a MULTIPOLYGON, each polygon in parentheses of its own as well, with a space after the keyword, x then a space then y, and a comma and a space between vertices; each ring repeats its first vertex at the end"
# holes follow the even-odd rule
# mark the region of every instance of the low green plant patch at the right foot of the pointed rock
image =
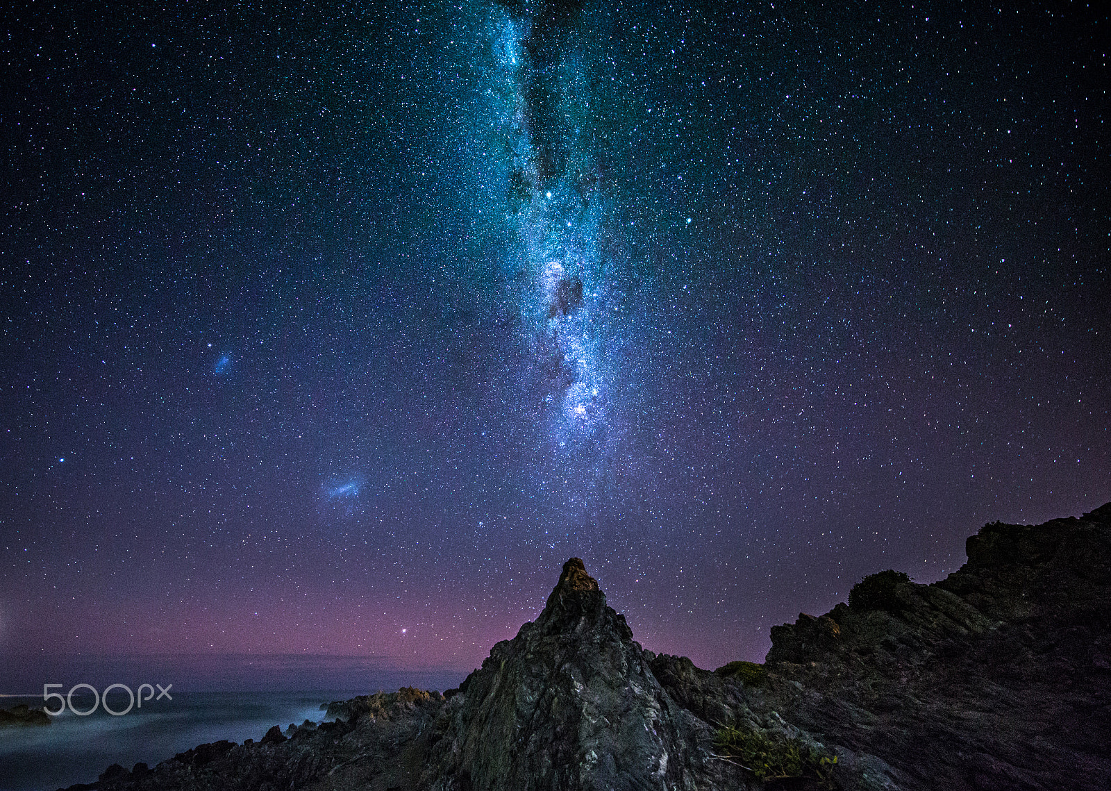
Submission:
POLYGON ((817 750, 799 739, 727 725, 714 738, 718 758, 747 769, 757 780, 812 778, 823 789, 833 788, 837 755, 817 750))

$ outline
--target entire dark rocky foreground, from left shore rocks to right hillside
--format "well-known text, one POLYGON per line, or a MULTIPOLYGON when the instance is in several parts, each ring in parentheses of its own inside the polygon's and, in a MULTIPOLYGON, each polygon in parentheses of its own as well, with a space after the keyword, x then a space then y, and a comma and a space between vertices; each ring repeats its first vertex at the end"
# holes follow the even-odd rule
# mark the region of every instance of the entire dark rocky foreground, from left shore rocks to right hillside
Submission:
POLYGON ((1111 503, 993 523, 931 585, 885 571, 710 672, 633 641, 572 558, 543 612, 444 694, 202 744, 74 789, 1111 788, 1111 503))

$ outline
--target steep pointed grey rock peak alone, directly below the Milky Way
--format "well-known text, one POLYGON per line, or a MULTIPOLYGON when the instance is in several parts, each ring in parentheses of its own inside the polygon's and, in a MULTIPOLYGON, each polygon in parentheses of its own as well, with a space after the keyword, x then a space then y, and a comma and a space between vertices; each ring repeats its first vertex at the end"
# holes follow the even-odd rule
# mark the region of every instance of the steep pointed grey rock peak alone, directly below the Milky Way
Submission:
POLYGON ((534 623, 493 647, 443 714, 424 784, 487 789, 738 788, 713 729, 677 703, 654 654, 572 558, 534 623))

